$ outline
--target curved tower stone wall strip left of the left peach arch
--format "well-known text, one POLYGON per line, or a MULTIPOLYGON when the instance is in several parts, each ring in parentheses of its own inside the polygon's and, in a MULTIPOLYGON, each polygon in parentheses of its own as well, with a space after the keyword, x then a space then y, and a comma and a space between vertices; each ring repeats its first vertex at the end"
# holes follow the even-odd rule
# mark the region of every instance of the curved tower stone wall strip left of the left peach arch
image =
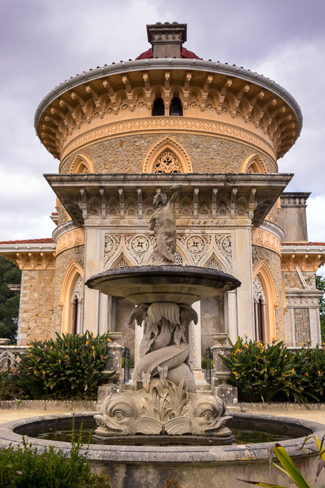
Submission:
POLYGON ((61 334, 62 307, 60 306, 60 294, 65 271, 72 261, 76 261, 84 268, 84 245, 72 247, 61 252, 56 257, 56 271, 54 280, 54 326, 53 333, 61 334))

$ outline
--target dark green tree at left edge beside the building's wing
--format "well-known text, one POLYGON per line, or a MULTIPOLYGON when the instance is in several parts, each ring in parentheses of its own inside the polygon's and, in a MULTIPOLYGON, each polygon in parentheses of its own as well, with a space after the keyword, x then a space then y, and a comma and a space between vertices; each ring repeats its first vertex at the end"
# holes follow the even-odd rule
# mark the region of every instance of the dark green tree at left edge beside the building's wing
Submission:
POLYGON ((22 272, 0 254, 0 337, 13 343, 17 337, 19 296, 11 291, 8 284, 19 284, 22 272))

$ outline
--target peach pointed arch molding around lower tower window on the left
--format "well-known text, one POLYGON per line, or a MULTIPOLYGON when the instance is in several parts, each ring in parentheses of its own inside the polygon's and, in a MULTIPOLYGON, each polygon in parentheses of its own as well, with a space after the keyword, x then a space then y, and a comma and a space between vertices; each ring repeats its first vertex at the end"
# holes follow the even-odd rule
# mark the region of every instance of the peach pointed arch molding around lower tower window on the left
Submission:
POLYGON ((63 276, 61 291, 60 291, 60 301, 59 305, 62 307, 62 327, 61 330, 64 334, 71 332, 71 317, 72 317, 72 291, 74 289, 74 284, 76 283, 78 277, 84 278, 84 269, 80 266, 77 261, 72 261, 68 268, 65 270, 63 276))

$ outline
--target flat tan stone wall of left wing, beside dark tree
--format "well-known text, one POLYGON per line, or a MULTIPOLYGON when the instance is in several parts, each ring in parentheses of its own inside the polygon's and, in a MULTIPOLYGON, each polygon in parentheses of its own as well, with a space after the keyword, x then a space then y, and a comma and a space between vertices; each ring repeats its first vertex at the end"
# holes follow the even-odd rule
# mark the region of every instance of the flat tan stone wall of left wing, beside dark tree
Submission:
POLYGON ((45 340, 52 333, 55 270, 22 270, 17 344, 45 340))

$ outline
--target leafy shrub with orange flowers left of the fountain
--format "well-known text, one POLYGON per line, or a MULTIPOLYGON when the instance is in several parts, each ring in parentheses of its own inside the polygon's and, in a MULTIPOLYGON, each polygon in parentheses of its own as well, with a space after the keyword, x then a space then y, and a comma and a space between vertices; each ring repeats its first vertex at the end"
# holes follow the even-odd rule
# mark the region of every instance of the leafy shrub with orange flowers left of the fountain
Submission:
POLYGON ((31 399, 96 398, 109 341, 109 333, 95 337, 87 331, 31 342, 11 379, 31 399))

